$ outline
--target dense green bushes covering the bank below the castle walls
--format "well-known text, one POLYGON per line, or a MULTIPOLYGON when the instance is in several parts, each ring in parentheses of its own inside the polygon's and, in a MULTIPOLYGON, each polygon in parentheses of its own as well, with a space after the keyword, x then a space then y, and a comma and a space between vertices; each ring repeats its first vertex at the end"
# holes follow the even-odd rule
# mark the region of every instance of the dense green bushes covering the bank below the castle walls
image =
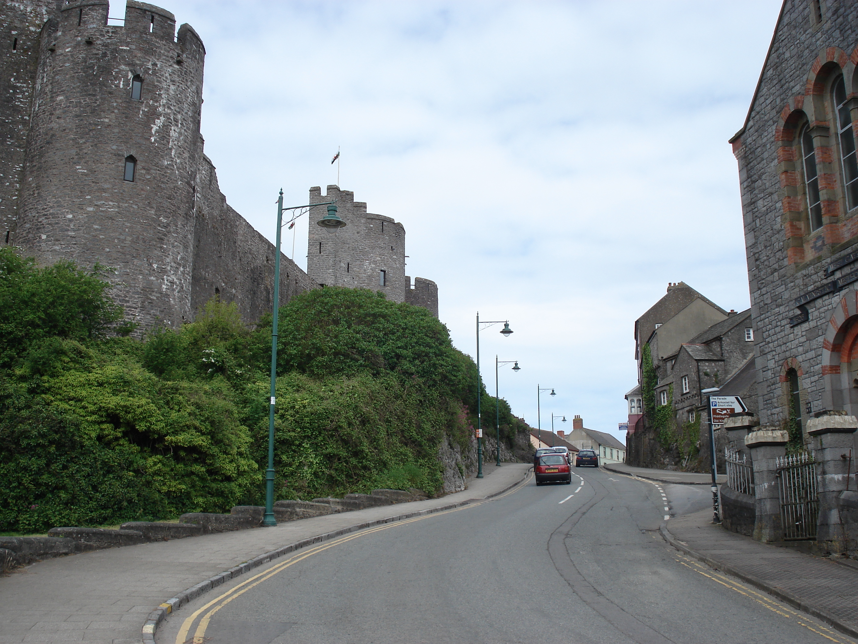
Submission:
MULTIPOLYGON (((105 270, 0 250, 0 531, 166 519, 261 503, 271 316, 214 299, 192 324, 127 337, 105 270)), ((425 309, 357 289, 281 308, 280 498, 439 489, 462 448, 476 367, 425 309)), ((526 426, 499 402, 502 440, 526 426)), ((495 399, 482 390, 483 422, 495 399)))

